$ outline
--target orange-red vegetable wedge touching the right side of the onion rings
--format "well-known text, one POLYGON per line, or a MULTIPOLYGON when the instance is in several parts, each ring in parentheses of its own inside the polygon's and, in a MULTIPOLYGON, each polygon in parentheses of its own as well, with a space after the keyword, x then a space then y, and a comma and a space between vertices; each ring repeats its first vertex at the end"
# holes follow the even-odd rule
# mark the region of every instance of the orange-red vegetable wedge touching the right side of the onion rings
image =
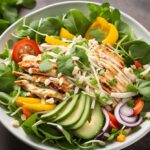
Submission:
POLYGON ((135 115, 135 116, 138 115, 138 114, 142 111, 143 107, 144 107, 144 101, 141 100, 140 98, 138 98, 138 99, 135 101, 135 106, 134 106, 134 108, 133 108, 133 110, 134 110, 134 115, 135 115))

